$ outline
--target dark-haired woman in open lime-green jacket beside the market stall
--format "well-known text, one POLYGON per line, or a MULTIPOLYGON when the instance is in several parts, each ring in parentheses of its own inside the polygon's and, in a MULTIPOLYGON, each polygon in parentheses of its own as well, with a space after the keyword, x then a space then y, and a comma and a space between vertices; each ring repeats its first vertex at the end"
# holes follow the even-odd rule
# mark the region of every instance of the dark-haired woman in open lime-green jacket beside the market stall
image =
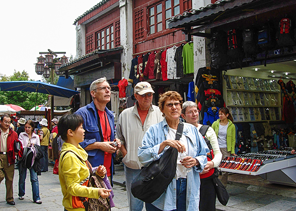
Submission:
MULTIPOLYGON (((226 156, 236 156, 235 145, 236 145, 236 127, 233 124, 233 118, 228 108, 219 109, 219 118, 213 122, 212 128, 214 129, 218 138, 219 148, 222 153, 222 159, 226 156)), ((223 172, 219 178, 224 186, 227 186, 228 172, 223 172)))

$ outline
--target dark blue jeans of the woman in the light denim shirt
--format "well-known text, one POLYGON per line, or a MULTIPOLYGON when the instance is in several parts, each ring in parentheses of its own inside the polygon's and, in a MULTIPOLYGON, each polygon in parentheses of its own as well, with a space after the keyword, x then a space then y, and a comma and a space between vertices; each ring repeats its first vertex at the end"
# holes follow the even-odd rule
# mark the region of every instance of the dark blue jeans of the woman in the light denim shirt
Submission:
MULTIPOLYGON (((185 211, 186 210, 186 194, 187 194, 187 179, 179 178, 176 180, 177 183, 177 209, 172 211, 185 211)), ((162 211, 161 209, 154 206, 152 203, 145 203, 147 211, 162 211)))

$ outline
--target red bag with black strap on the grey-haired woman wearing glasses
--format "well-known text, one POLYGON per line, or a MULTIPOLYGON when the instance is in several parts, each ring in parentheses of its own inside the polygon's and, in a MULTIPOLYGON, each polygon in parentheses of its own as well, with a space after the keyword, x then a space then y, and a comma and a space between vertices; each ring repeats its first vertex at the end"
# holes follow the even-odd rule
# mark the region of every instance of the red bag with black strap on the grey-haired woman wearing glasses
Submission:
MULTIPOLYGON (((208 130, 210 126, 209 125, 203 125, 201 126, 201 128, 199 129, 199 133, 202 135, 208 149, 209 149, 209 153, 207 153, 206 155, 206 159, 207 161, 211 161, 214 158, 214 151, 212 148, 212 145, 210 143, 210 141, 205 137, 205 134, 208 130)), ((211 168, 207 173, 205 174, 199 174, 200 179, 203 178, 212 178, 212 177, 217 177, 218 176, 218 170, 217 168, 211 168)))

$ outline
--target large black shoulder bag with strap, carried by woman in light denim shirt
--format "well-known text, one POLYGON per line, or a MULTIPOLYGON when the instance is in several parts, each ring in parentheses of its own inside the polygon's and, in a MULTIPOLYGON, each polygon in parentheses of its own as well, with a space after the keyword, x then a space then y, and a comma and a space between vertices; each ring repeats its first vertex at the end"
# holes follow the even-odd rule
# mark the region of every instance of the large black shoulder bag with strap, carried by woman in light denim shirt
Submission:
MULTIPOLYGON (((176 140, 180 140, 183 123, 178 125, 176 140)), ((134 197, 152 203, 167 189, 176 174, 178 150, 170 147, 160 159, 147 167, 142 167, 140 173, 131 183, 131 193, 134 197)))

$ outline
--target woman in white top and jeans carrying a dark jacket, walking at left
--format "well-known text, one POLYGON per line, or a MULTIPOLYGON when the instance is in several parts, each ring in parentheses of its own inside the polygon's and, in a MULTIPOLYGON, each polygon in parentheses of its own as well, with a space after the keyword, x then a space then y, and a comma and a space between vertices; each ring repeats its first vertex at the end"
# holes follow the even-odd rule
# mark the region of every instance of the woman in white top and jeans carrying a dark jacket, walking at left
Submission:
MULTIPOLYGON (((32 120, 28 120, 25 124, 25 132, 21 133, 19 136, 20 142, 22 142, 23 147, 31 147, 36 144, 40 146, 39 136, 34 133, 35 124, 32 120)), ((29 169, 30 171, 30 179, 32 184, 32 192, 33 192, 33 201, 37 204, 41 204, 39 195, 39 181, 37 172, 34 167, 29 169)), ((25 162, 21 162, 19 164, 19 199, 25 199, 25 181, 27 177, 27 168, 25 166, 25 162)))

